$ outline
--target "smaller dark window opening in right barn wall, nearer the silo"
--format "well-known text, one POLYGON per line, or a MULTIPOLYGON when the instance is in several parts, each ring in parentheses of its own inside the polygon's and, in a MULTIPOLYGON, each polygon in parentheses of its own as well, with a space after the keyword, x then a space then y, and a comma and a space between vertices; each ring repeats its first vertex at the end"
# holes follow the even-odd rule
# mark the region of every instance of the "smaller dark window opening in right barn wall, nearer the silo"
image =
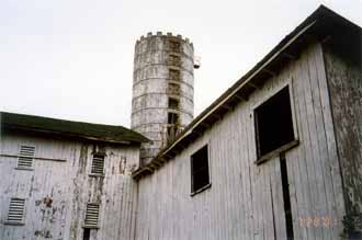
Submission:
POLYGON ((207 145, 191 156, 191 192, 210 184, 207 145))

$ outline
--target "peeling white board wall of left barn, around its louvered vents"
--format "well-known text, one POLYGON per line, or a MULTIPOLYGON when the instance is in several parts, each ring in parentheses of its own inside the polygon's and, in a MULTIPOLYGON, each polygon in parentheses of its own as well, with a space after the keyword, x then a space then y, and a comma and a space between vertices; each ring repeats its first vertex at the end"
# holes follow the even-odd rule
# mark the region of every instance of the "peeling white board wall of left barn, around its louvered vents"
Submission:
POLYGON ((93 144, 2 133, 0 239, 81 240, 87 203, 101 203, 94 239, 133 239, 139 147, 104 146, 104 178, 91 176, 93 144), (35 146, 33 170, 18 170, 20 145, 35 146), (5 181, 3 181, 5 180, 5 181), (11 197, 25 198, 23 226, 7 225, 11 197))

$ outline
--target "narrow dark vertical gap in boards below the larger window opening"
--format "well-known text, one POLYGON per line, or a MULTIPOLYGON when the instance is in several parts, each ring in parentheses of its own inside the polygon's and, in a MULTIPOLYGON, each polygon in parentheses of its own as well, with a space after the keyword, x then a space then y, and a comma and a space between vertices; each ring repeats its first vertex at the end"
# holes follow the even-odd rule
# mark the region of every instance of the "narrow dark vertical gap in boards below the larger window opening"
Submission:
POLYGON ((287 180, 287 169, 284 153, 281 153, 281 174, 282 174, 282 187, 283 187, 283 201, 284 201, 284 214, 286 225, 286 238, 287 240, 294 239, 293 232, 293 216, 290 197, 290 185, 287 180))

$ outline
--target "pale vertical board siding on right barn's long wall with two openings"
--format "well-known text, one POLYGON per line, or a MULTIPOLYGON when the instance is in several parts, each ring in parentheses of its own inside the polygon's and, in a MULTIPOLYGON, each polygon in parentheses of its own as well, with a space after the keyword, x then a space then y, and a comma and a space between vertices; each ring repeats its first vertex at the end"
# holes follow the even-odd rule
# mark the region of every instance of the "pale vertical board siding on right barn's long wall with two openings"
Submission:
POLYGON ((139 180, 136 239, 286 239, 280 160, 254 164, 253 124, 253 108, 286 84, 299 139, 285 155, 294 237, 339 239, 344 203, 320 45, 312 44, 283 68, 139 180), (190 156, 205 144, 212 186, 191 196, 190 156))

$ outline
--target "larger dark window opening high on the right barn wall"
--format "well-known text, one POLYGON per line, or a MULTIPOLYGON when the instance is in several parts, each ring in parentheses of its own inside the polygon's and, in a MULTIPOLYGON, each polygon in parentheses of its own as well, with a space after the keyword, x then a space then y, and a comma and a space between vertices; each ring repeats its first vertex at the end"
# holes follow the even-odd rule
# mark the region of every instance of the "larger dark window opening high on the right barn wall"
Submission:
POLYGON ((289 87, 254 110, 258 158, 294 140, 289 87))

